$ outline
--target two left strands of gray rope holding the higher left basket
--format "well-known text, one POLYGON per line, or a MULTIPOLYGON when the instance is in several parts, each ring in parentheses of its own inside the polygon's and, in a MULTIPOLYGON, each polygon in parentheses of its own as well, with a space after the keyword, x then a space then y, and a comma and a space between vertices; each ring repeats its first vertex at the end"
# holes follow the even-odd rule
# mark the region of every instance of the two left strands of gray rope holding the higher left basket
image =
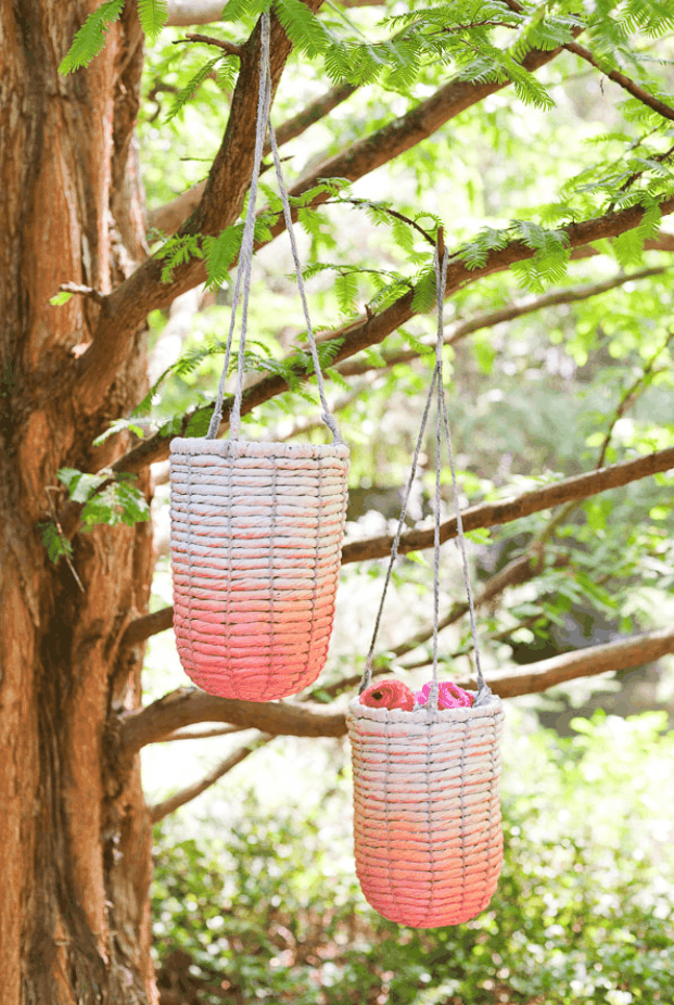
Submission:
POLYGON ((260 51, 259 51, 259 89, 257 94, 257 122, 255 124, 255 154, 253 162, 253 176, 251 178, 251 190, 249 192, 249 205, 245 214, 245 224, 241 239, 241 251, 239 252, 239 266, 237 268, 237 279, 234 281, 234 292, 231 305, 231 321, 229 325, 229 334, 227 336, 227 348, 225 352, 225 364, 218 384, 218 394, 215 402, 215 410, 211 417, 206 440, 215 440, 222 421, 222 400, 225 397, 225 381, 229 372, 229 360, 231 357, 231 344, 237 321, 237 307, 239 305, 239 292, 241 280, 243 278, 243 308, 241 313, 241 341, 239 343, 239 362, 237 368, 237 385, 234 389, 234 402, 229 418, 229 435, 231 440, 239 436, 241 424, 241 398, 243 396, 243 361, 245 356, 245 333, 249 318, 249 292, 251 287, 251 268, 253 265, 253 245, 255 241, 255 201, 257 198, 257 182, 259 180, 259 168, 263 160, 263 150, 265 144, 265 133, 267 131, 267 122, 269 119, 269 105, 271 103, 271 87, 268 82, 267 67, 269 65, 269 15, 262 15, 260 28, 260 51))

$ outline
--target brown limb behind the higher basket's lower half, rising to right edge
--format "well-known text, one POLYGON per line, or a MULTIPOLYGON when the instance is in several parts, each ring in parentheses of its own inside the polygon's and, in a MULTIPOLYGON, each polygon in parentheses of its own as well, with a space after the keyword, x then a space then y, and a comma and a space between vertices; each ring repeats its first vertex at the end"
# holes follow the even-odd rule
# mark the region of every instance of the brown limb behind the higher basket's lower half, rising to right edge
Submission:
MULTIPOLYGON (((586 474, 562 479, 560 482, 535 488, 533 492, 523 493, 514 498, 501 499, 498 502, 481 502, 462 511, 463 530, 475 531, 479 527, 510 523, 512 520, 530 517, 532 513, 552 509, 564 502, 586 499, 610 488, 621 488, 631 482, 639 481, 660 471, 669 471, 671 468, 674 468, 674 447, 657 450, 654 454, 638 457, 636 460, 626 460, 619 465, 599 468, 586 474)), ((456 537, 456 517, 450 517, 441 525, 441 543, 450 540, 456 537)), ((400 537, 398 554, 406 555, 409 551, 421 551, 433 547, 433 527, 408 531, 400 537)), ((392 544, 393 538, 389 535, 347 543, 342 550, 342 564, 385 558, 391 554, 392 544)), ((152 635, 170 628, 171 625, 173 608, 162 608, 161 611, 132 621, 120 645, 138 645, 152 635)))

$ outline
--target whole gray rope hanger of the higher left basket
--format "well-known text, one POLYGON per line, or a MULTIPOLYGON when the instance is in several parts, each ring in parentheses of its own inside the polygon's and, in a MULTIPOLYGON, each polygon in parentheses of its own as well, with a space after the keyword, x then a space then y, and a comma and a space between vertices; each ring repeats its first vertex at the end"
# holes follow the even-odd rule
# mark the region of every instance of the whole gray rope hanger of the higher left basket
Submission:
POLYGON ((239 254, 239 265, 237 268, 237 278, 234 281, 234 290, 232 294, 232 307, 231 307, 231 320, 229 325, 229 332, 227 335, 227 346, 225 351, 225 362, 222 365, 222 373, 220 376, 220 381, 218 384, 218 393, 215 403, 215 409, 213 416, 211 417, 211 423, 208 425, 208 432, 206 433, 206 440, 215 440, 218 434, 220 422, 222 421, 222 402, 225 397, 225 382, 227 380, 227 374, 229 372, 229 362, 231 358, 231 347, 232 347, 232 338, 234 332, 234 326, 237 320, 237 307, 239 304, 239 296, 241 293, 241 285, 243 283, 243 298, 242 298, 242 308, 241 308, 241 338, 239 342, 239 357, 237 366, 237 380, 234 385, 234 399, 230 412, 229 420, 229 438, 238 440, 241 429, 241 400, 243 397, 243 365, 245 358, 245 336, 247 329, 247 316, 249 316, 249 297, 251 291, 251 269, 253 262, 253 247, 255 241, 255 202, 257 199, 257 187, 259 181, 259 171, 260 165, 263 162, 263 151, 264 142, 267 129, 269 130, 269 141, 271 145, 271 152, 274 155, 274 165, 276 169, 276 177, 279 186, 279 192, 281 195, 281 202, 283 204, 283 218, 285 220, 285 228, 288 230, 288 236, 290 238, 290 246, 293 256, 293 263, 295 267, 295 276, 297 279, 297 289, 300 291, 300 298, 302 301, 302 309, 304 313, 304 319, 307 327, 307 339, 309 342, 309 348, 311 353, 311 360, 314 364, 314 372, 316 373, 316 383, 318 385, 318 394, 320 397, 320 404, 322 408, 321 420, 328 427, 332 433, 332 438, 334 443, 343 443, 342 436, 340 434, 336 420, 326 397, 326 386, 323 381, 323 374, 320 367, 320 358, 318 355, 318 348, 316 346, 316 339, 314 336, 314 329, 311 326, 311 320, 309 318, 309 309, 306 300, 306 293, 304 289, 304 280, 302 278, 302 265, 300 263, 300 256, 297 254, 297 245, 295 242, 295 236, 293 231, 292 214, 290 208, 290 201, 288 198, 288 189, 285 188, 285 182, 283 180, 283 174, 281 170, 281 162, 279 157, 278 145, 276 141, 276 133, 271 125, 269 117, 269 112, 271 109, 271 63, 269 56, 269 43, 270 43, 270 17, 269 13, 265 12, 260 18, 260 53, 259 53, 259 90, 257 96, 257 120, 255 126, 255 154, 253 163, 253 175, 251 178, 251 188, 249 192, 249 204, 246 208, 245 222, 243 228, 243 237, 241 240, 241 251, 239 254))

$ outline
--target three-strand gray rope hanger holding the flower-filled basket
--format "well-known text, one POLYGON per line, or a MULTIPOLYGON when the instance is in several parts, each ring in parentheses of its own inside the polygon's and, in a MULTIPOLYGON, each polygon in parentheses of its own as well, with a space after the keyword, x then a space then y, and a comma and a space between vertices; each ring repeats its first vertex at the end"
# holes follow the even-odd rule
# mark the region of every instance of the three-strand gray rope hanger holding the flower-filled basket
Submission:
MULTIPOLYGON (((442 231, 440 233, 440 243, 442 241, 442 231)), ((447 451, 449 455, 449 470, 452 472, 452 489, 454 497, 454 507, 456 512, 457 521, 457 545, 461 552, 461 564, 463 571, 463 583, 466 585, 466 594, 468 597, 468 610, 470 616, 470 631, 473 643, 473 649, 475 652, 475 670, 478 676, 478 695, 473 702, 474 707, 486 704, 492 699, 492 690, 484 679, 484 674, 482 673, 482 665, 480 661, 480 645, 478 641, 478 627, 475 624, 475 609, 473 603, 473 593, 470 585, 470 575, 468 571, 468 556, 466 552, 466 535, 463 534, 463 521, 461 520, 461 506, 459 502, 459 491, 456 479, 456 468, 454 463, 454 449, 452 446, 452 434, 449 430, 449 417, 447 412, 447 403, 445 398, 445 387, 443 383, 443 327, 444 327, 444 304, 445 304, 445 289, 446 289, 446 277, 447 277, 447 258, 448 252, 445 249, 442 264, 440 260, 440 250, 436 246, 433 265, 435 268, 435 297, 437 306, 437 329, 436 329, 436 339, 435 339, 435 366, 433 367, 433 374, 431 378, 431 386, 429 387, 428 397, 425 399, 425 405, 423 409, 423 415, 421 417, 421 427, 419 429, 419 436, 417 437, 417 445, 415 447, 415 454, 412 457, 411 469, 409 473, 409 479, 407 486, 405 488, 405 496, 403 499, 403 507, 400 510, 400 517, 398 519, 397 530, 395 532, 395 537, 393 539, 393 545, 391 548, 391 558, 389 560, 389 568, 386 569, 386 577, 384 580, 384 587, 382 590, 382 596, 379 605, 379 610, 377 612, 377 618, 374 619, 374 629, 372 632, 372 640, 370 643, 370 648, 365 661, 365 671, 363 673, 363 679, 360 682, 359 694, 368 687, 372 679, 372 656, 374 652, 374 646, 377 644, 377 636, 379 634, 379 627, 381 623, 382 612, 384 609, 384 602, 386 599, 386 593, 389 589, 389 584, 391 582, 391 575, 393 572, 393 565, 397 558, 398 546, 400 543, 400 535, 403 533, 403 525, 405 523, 405 517, 407 516, 407 507, 409 504, 409 497, 411 494, 411 487, 417 474, 417 467, 419 462, 419 454, 421 453, 421 445, 423 443, 423 434, 425 432, 429 414, 431 411, 431 403, 433 397, 436 398, 436 425, 435 425, 435 525, 434 525, 434 540, 433 540, 433 680, 431 684, 431 689, 429 694, 429 700, 427 708, 429 708, 433 713, 437 712, 438 707, 438 680, 437 680, 437 636, 438 636, 438 622, 440 622, 440 524, 441 524, 441 514, 440 514, 440 502, 441 502, 441 483, 440 483, 440 458, 442 449, 442 433, 445 434, 445 442, 447 444, 447 451)))

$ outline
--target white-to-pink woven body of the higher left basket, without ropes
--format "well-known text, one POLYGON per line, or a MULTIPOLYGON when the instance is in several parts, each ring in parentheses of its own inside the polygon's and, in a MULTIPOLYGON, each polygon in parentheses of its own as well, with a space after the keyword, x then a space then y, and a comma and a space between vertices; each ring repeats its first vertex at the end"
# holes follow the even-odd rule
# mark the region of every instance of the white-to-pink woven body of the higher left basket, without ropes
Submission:
POLYGON ((269 701, 311 684, 328 656, 348 449, 174 440, 174 628, 192 680, 269 701))

